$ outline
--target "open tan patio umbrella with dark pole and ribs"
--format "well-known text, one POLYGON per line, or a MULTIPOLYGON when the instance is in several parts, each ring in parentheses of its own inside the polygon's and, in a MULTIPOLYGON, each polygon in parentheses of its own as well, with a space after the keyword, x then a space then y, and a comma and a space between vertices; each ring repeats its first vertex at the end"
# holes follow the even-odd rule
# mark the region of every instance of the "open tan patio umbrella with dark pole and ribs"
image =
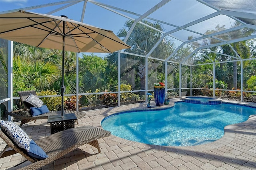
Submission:
POLYGON ((112 31, 34 12, 0 14, 0 38, 36 47, 62 50, 62 116, 64 113, 64 55, 66 51, 112 53, 130 48, 112 31))

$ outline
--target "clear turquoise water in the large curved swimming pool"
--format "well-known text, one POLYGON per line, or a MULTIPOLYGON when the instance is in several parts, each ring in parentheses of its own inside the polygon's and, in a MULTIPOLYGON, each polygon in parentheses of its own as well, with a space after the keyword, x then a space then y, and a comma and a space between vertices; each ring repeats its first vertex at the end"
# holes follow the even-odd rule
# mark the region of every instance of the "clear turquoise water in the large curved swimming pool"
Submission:
POLYGON ((127 140, 162 146, 193 146, 218 140, 227 125, 246 121, 256 109, 222 103, 178 102, 160 111, 137 111, 106 117, 101 125, 127 140))

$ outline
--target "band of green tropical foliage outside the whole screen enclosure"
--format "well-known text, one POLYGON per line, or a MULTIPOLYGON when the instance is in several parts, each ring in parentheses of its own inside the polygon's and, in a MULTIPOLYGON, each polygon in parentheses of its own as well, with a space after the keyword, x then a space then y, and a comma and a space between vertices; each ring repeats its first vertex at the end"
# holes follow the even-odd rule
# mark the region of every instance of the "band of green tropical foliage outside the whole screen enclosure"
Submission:
MULTIPOLYGON (((117 36, 122 40, 129 34, 126 43, 131 46, 130 49, 125 49, 125 53, 120 54, 120 78, 121 78, 121 101, 140 101, 145 100, 145 80, 146 80, 146 56, 148 68, 148 89, 154 87, 154 82, 163 82, 164 63, 163 61, 170 56, 176 49, 176 44, 170 39, 162 38, 164 31, 163 26, 159 23, 152 23, 148 20, 142 20, 142 23, 134 23, 133 20, 128 20, 124 24, 124 28, 120 29, 117 36), (134 25, 135 24, 135 25, 134 25), (146 25, 150 26, 147 27, 146 25), (131 31, 131 29, 133 30, 131 31), (160 30, 160 31, 158 31, 160 30), (161 41, 160 41, 161 40, 161 41), (155 47, 156 43, 159 43, 155 47), (152 50, 152 48, 154 50, 152 50), (152 50, 152 51, 151 51, 152 50), (136 53, 137 55, 132 55, 136 53), (150 55, 149 55, 150 54, 150 55), (157 60, 162 59, 162 60, 157 60), (139 92, 132 93, 130 91, 139 92)), ((215 30, 208 30, 205 34, 212 34, 219 30, 225 30, 225 26, 216 26, 215 30)), ((252 34, 250 29, 241 29, 237 34, 252 34)), ((217 38, 232 39, 236 35, 220 35, 217 38), (222 36, 222 37, 221 37, 222 36)), ((188 40, 193 39, 192 36, 188 40)), ((202 43, 216 43, 215 39, 206 39, 202 43)), ((200 44, 194 43, 194 46, 200 44)), ((171 60, 179 61, 180 56, 189 55, 194 47, 185 45, 181 47, 172 56, 171 60)), ((1 67, 2 72, 7 73, 6 59, 3 57, 6 51, 1 48, 1 67)), ((182 65, 182 79, 179 80, 179 65, 177 63, 167 63, 167 81, 165 85, 172 93, 170 97, 175 97, 178 94, 175 89, 179 88, 180 83, 182 88, 190 87, 190 83, 194 88, 192 95, 213 95, 213 79, 215 79, 216 95, 230 95, 235 89, 241 89, 243 81, 244 90, 256 90, 256 60, 250 60, 256 56, 255 41, 243 41, 231 43, 230 45, 221 45, 212 47, 209 51, 193 55, 195 58, 192 67, 192 77, 190 77, 190 65, 182 65), (212 53, 216 51, 217 53, 212 53), (239 55, 239 56, 238 56, 239 55), (241 63, 236 58, 244 59, 241 63), (247 60, 248 59, 248 60, 247 60), (213 64, 215 63, 215 68, 213 64), (204 65, 200 65, 204 64, 204 65), (215 69, 215 77, 213 70, 215 69), (244 78, 241 80, 241 70, 244 78), (191 79, 192 78, 192 79, 191 79), (204 88, 206 90, 199 90, 204 88), (222 93, 222 89, 228 89, 226 93, 222 93)), ((78 88, 76 89, 76 53, 65 52, 64 61, 64 85, 66 86, 66 94, 70 97, 65 97, 65 108, 75 109, 76 101, 74 93, 78 90, 83 94, 79 98, 81 106, 103 104, 107 106, 115 106, 118 101, 118 53, 114 52, 106 57, 98 57, 91 53, 90 55, 82 54, 78 59, 78 88), (100 94, 101 93, 101 94, 100 94)), ((55 49, 36 48, 30 45, 14 42, 14 57, 13 57, 13 95, 18 96, 17 91, 36 90, 38 95, 60 95, 62 71, 62 51, 55 49)), ((1 84, 5 80, 0 75, 1 84)), ((3 88, 3 87, 1 87, 3 88)), ((5 88, 6 89, 6 88, 5 88)), ((246 93, 245 96, 251 96, 255 93, 246 93)), ((60 97, 43 97, 45 104, 50 110, 60 109, 60 97)))

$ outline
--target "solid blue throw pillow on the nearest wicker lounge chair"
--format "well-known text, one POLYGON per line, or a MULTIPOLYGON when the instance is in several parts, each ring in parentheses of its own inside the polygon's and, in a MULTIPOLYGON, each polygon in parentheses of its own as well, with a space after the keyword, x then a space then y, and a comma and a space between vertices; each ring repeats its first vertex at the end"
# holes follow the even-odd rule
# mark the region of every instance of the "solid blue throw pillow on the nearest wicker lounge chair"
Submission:
POLYGON ((34 140, 30 141, 30 149, 28 152, 28 155, 36 158, 36 159, 45 159, 48 158, 48 155, 44 152, 44 150, 42 148, 40 148, 40 146, 38 146, 36 144, 36 142, 34 142, 34 140))

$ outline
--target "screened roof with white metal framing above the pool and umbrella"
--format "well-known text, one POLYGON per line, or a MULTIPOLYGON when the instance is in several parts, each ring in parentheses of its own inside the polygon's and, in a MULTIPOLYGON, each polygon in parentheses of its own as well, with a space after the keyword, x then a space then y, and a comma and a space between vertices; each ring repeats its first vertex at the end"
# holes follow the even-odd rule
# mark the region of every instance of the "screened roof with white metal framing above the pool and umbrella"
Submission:
MULTIPOLYGON (((256 0, 52 0, 33 1, 25 8, 11 5, 8 10, 3 6, 0 9, 1 13, 28 10, 66 15, 115 34, 127 20, 134 20, 133 26, 148 26, 142 20, 158 22, 162 30, 151 28, 159 31, 161 38, 145 57, 187 65, 192 65, 209 47, 256 38, 256 0), (152 57, 161 41, 175 43, 175 49, 166 57, 152 57), (189 48, 190 53, 180 53, 182 47, 189 48)), ((131 36, 133 26, 122 39, 124 42, 131 36)), ((236 55, 230 57, 239 59, 236 55)))

